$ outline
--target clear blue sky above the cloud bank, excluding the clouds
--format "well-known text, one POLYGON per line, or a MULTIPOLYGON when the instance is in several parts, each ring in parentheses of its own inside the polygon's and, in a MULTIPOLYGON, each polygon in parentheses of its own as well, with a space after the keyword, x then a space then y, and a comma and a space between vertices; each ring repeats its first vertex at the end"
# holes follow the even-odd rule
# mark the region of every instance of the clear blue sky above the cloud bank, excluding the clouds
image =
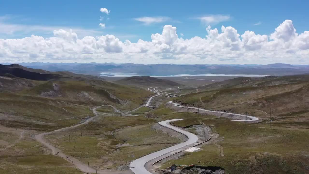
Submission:
MULTIPOLYGON (((295 28, 304 31, 309 28, 306 1, 3 1, 0 16, 7 16, 8 24, 42 25, 67 28, 83 28, 98 31, 92 35, 114 34, 122 41, 139 38, 150 41, 151 33, 162 31, 163 25, 177 27, 177 33, 183 38, 194 36, 205 37, 206 24, 198 17, 205 15, 228 15, 230 19, 218 24, 210 24, 212 28, 233 26, 238 33, 253 30, 257 34, 270 34, 282 21, 293 20, 295 28), (106 15, 99 11, 101 7, 110 10, 106 15), (106 28, 98 24, 100 16, 106 28), (144 25, 134 20, 139 17, 169 17, 161 23, 144 25), (106 21, 106 18, 109 21, 106 21), (253 25, 256 23, 260 25, 253 25)), ((52 36, 52 32, 30 31, 16 32, 12 35, 2 33, 2 38, 19 38, 40 34, 52 36)))

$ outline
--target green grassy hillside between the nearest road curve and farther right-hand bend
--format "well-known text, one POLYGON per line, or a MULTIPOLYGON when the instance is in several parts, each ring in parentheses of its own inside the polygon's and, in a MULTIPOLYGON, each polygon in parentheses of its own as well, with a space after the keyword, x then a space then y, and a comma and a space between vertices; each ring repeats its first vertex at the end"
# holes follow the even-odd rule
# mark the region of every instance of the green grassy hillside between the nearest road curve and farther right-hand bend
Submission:
MULTIPOLYGON (((222 96, 221 96, 222 97, 222 96)), ((248 124, 218 119, 212 115, 193 112, 177 112, 164 108, 150 111, 147 116, 157 121, 185 118, 173 124, 191 133, 201 132, 206 125, 212 139, 195 152, 183 152, 158 163, 161 169, 178 165, 220 166, 226 173, 293 173, 305 174, 309 167, 309 124, 267 121, 248 124)))

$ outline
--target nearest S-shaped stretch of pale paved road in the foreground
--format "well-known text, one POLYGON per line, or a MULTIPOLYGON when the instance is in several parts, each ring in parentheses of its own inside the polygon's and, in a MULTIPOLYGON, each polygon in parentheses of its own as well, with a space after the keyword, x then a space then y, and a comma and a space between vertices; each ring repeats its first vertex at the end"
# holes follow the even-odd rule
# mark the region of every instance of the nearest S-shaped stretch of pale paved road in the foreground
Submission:
POLYGON ((171 147, 168 147, 166 149, 162 149, 162 150, 159 150, 157 152, 154 152, 154 153, 151 153, 151 154, 148 154, 146 156, 143 156, 141 158, 138 158, 138 159, 135 159, 134 161, 132 161, 129 165, 131 171, 135 174, 151 174, 148 170, 146 170, 145 168, 145 164, 152 160, 152 159, 155 159, 159 156, 162 156, 168 152, 171 152, 173 150, 177 150, 181 147, 184 147, 184 146, 187 146, 189 144, 192 144, 192 143, 195 143, 197 140, 198 140, 198 137, 196 135, 194 135, 193 133, 189 133, 189 132, 186 132, 180 128, 177 128, 175 126, 172 126, 170 124, 168 124, 169 122, 172 122, 172 121, 178 121, 178 120, 184 120, 184 119, 173 119, 173 120, 165 120, 165 121, 161 121, 159 122, 158 124, 160 124, 161 126, 164 126, 164 127, 167 127, 167 128, 170 128, 172 130, 175 130, 179 133, 182 133, 184 135, 186 135, 188 137, 188 140, 183 142, 183 143, 180 143, 180 144, 177 144, 175 146, 171 146, 171 147))

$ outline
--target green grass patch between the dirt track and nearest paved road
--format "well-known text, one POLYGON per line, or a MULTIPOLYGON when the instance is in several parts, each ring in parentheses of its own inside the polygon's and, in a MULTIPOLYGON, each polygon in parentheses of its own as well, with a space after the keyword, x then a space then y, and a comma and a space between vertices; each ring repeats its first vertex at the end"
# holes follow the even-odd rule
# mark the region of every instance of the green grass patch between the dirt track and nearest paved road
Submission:
POLYGON ((98 169, 115 169, 126 167, 129 161, 151 151, 180 142, 151 128, 154 123, 155 120, 143 116, 100 116, 87 125, 56 132, 46 138, 67 155, 81 158, 84 163, 89 162, 98 169))

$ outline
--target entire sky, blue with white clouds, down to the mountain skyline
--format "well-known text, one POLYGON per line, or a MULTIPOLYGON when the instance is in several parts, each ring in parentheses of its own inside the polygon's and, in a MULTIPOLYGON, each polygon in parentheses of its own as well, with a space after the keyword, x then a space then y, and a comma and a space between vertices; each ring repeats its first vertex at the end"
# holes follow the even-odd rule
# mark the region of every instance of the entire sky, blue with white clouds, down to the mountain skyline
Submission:
POLYGON ((2 1, 0 62, 309 64, 308 6, 297 0, 2 1))

